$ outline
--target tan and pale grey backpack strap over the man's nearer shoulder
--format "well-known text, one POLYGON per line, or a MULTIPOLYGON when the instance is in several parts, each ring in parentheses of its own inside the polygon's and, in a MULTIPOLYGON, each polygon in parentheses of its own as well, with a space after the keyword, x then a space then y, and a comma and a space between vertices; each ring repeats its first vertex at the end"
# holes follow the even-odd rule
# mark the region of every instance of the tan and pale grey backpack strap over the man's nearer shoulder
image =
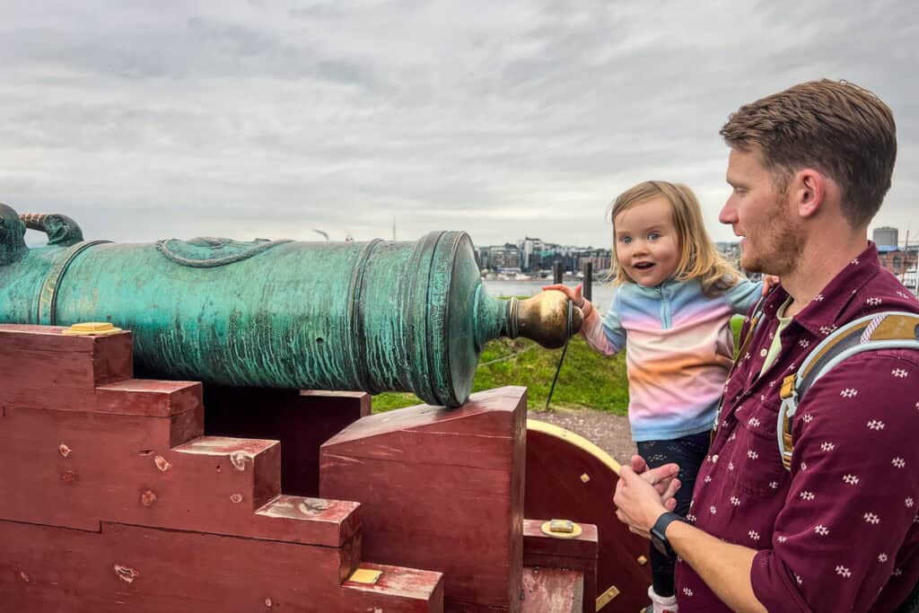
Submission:
POLYGON ((782 380, 776 433, 782 464, 791 470, 794 439, 791 427, 798 404, 811 386, 847 358, 877 349, 919 350, 919 314, 887 311, 861 317, 828 335, 814 347, 800 368, 782 380))

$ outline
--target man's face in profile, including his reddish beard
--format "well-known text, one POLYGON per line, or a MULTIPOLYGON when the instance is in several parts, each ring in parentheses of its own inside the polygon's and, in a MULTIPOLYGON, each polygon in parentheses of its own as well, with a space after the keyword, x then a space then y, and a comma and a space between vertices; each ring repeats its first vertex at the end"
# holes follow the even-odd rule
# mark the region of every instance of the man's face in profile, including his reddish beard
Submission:
POLYGON ((798 265, 803 231, 788 190, 762 162, 757 148, 732 149, 728 158, 731 196, 719 215, 741 240, 741 266, 750 272, 789 275, 798 265))

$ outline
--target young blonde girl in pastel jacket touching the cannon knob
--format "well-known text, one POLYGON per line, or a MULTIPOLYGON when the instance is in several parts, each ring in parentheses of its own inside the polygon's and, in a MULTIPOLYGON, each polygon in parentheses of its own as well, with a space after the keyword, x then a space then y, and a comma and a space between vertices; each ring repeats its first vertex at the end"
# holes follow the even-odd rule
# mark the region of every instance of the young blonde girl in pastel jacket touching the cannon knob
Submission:
MULTIPOLYGON (((719 254, 686 186, 640 183, 613 202, 611 219, 618 289, 606 317, 581 286, 545 289, 581 307, 588 345, 607 356, 625 348, 632 440, 651 468, 679 464, 676 513, 685 517, 731 369, 731 317, 747 312, 762 284, 719 254)), ((651 547, 651 562, 652 610, 675 611, 675 561, 651 547)))

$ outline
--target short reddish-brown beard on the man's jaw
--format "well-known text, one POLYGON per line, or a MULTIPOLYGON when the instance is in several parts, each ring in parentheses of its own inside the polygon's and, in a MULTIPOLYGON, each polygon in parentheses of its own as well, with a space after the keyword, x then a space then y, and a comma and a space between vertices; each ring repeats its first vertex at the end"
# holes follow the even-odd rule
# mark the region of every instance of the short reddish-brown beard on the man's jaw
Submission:
MULTIPOLYGON (((804 232, 792 220, 785 206, 785 194, 779 195, 766 224, 756 233, 754 253, 741 253, 741 266, 748 272, 787 276, 794 272, 804 250, 804 232)), ((753 244, 747 234, 746 244, 753 244)))

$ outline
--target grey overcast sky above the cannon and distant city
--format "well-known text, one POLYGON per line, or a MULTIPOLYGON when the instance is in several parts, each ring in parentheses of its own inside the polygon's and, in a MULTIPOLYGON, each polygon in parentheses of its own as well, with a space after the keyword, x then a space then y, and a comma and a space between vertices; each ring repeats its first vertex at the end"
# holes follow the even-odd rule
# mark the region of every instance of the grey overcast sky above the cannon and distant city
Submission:
POLYGON ((919 239, 914 0, 0 6, 0 201, 87 238, 369 240, 394 218, 399 240, 608 246, 607 203, 662 178, 731 240, 721 124, 829 77, 893 109, 873 225, 919 239))

